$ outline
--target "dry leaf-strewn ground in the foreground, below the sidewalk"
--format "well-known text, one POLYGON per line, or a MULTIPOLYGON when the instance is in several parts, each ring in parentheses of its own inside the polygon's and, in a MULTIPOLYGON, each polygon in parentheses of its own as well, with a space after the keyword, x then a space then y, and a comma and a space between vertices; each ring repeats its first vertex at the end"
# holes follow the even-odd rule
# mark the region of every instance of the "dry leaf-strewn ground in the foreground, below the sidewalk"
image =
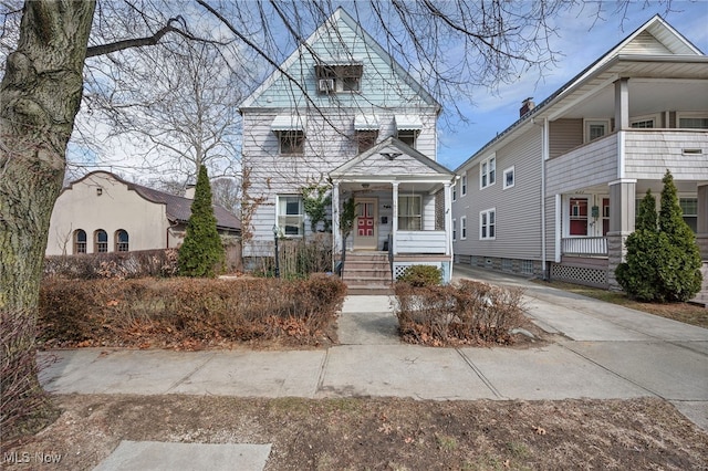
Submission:
MULTIPOLYGON (((268 470, 708 468, 708 433, 659 399, 417 401, 71 395, 13 452, 91 470, 121 440, 272 443, 268 470)), ((189 463, 186 463, 186 465, 189 463)), ((205 463, 191 463, 201 464, 205 463)), ((37 469, 37 464, 3 469, 37 469)))

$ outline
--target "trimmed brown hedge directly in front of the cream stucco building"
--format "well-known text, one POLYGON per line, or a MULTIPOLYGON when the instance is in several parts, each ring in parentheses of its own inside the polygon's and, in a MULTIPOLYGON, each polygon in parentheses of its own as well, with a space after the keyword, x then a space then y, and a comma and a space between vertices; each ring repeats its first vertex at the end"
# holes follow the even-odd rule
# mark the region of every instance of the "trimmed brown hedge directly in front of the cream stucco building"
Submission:
POLYGON ((177 274, 177 249, 162 249, 52 255, 44 259, 44 278, 124 280, 174 276, 177 274))

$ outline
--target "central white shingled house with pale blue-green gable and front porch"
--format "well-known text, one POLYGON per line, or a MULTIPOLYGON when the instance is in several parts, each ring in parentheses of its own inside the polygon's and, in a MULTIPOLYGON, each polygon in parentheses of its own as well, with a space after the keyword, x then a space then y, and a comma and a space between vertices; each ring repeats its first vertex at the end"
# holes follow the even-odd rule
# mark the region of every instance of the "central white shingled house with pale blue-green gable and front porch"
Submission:
POLYGON ((385 285, 419 263, 449 280, 455 175, 436 161, 440 105, 341 8, 281 70, 240 106, 253 208, 243 221, 247 265, 273 257, 273 229, 311 236, 302 189, 314 184, 330 188, 332 244, 339 257, 346 243, 350 287, 385 285), (357 218, 344 242, 339 220, 350 198, 357 218))

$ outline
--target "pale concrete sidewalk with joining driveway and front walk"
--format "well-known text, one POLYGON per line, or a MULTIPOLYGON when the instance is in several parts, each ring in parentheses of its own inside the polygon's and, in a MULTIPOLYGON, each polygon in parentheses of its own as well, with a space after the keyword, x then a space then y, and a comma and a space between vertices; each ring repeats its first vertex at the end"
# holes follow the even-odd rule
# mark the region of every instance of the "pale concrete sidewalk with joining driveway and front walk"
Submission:
MULTIPOLYGON (((402 344, 392 297, 348 296, 339 320, 341 345, 326 350, 54 350, 59 360, 43 371, 42 381, 56 394, 434 400, 654 396, 708 430, 708 329, 486 270, 456 266, 455 278, 523 287, 529 315, 561 339, 528 349, 402 344)), ((147 446, 126 442, 100 469, 132 469, 134 462, 118 464, 135 453, 131 447, 147 446)), ((153 447, 178 453, 169 443, 153 447)), ((239 452, 214 451, 229 458, 221 460, 223 468, 217 461, 208 468, 233 469, 239 452)), ((262 453, 256 451, 258 459, 249 456, 251 461, 237 468, 262 469, 262 453)))

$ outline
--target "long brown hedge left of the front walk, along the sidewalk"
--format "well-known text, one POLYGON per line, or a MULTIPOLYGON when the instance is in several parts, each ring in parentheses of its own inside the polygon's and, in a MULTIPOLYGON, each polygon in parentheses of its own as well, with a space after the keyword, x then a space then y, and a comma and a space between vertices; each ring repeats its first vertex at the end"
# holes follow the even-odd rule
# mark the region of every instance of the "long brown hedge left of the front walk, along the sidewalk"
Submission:
POLYGON ((41 339, 49 345, 165 347, 285 339, 316 345, 334 324, 345 285, 308 280, 45 280, 41 339))

